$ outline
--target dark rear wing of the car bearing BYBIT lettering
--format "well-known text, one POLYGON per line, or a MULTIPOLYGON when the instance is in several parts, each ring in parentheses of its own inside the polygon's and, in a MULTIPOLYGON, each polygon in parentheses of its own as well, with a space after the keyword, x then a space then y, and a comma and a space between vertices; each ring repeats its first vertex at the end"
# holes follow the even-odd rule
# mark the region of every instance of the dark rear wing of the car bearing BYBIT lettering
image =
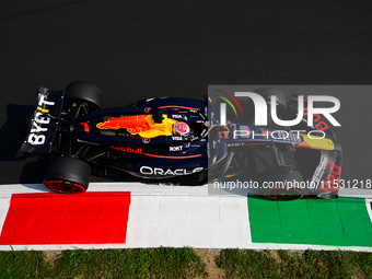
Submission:
POLYGON ((63 91, 46 88, 38 90, 37 108, 31 120, 30 132, 21 150, 37 154, 48 154, 58 129, 58 119, 63 104, 63 91))

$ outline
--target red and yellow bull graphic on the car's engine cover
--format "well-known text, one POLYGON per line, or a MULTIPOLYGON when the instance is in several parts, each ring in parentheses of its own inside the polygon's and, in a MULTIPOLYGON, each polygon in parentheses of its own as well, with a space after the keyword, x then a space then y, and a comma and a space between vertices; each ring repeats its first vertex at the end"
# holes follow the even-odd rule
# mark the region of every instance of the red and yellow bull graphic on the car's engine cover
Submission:
POLYGON ((175 135, 177 124, 178 126, 187 126, 185 123, 167 118, 166 115, 163 115, 162 123, 154 123, 151 115, 133 115, 108 119, 104 123, 98 123, 96 127, 98 129, 127 129, 131 135, 139 135, 142 138, 155 138, 175 135))

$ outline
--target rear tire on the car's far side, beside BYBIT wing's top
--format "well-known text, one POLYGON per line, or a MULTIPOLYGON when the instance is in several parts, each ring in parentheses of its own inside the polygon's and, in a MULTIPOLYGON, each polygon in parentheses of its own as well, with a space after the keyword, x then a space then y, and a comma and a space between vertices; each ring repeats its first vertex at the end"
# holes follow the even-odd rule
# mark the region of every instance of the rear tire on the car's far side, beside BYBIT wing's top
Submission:
POLYGON ((73 81, 66 88, 67 102, 85 102, 100 109, 103 105, 103 93, 101 89, 90 82, 73 81))

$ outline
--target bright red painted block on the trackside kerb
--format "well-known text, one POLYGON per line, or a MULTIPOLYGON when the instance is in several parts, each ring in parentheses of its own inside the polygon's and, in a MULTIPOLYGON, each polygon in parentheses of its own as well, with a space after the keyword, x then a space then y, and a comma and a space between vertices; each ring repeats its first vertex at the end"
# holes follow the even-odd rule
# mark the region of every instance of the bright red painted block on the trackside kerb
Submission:
POLYGON ((125 243, 130 193, 13 194, 0 245, 125 243))

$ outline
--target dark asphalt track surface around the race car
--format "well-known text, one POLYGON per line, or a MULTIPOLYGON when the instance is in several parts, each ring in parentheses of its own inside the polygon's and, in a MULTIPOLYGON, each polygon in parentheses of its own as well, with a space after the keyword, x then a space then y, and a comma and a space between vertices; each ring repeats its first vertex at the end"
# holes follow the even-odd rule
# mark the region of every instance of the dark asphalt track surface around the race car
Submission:
MULTIPOLYGON (((40 85, 97 84, 105 107, 202 98, 210 84, 372 84, 369 1, 8 1, 0 11, 0 184, 40 183, 19 149, 40 85)), ((365 88, 335 95, 342 176, 371 176, 365 88)), ((93 178, 101 181, 101 178, 93 178)))

